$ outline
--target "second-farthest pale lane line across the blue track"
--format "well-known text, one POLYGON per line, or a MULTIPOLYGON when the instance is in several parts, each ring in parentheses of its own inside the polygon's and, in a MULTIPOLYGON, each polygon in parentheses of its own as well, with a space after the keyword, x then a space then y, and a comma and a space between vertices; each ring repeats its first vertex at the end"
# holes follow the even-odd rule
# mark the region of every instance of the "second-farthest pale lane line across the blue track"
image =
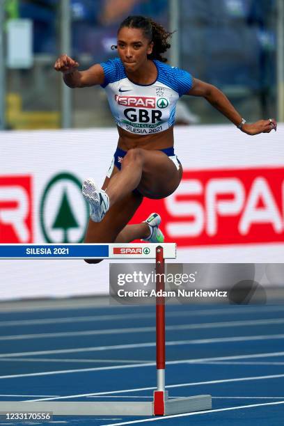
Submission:
MULTIPOLYGON (((183 324, 166 326, 166 331, 178 331, 178 330, 196 330, 196 329, 215 329, 215 328, 228 328, 236 326, 260 326, 260 325, 271 325, 271 324, 284 324, 284 318, 278 319, 253 319, 250 321, 229 321, 229 322, 210 322, 201 324, 183 324)), ((148 333, 155 332, 155 326, 148 327, 131 327, 127 329, 100 329, 100 330, 88 330, 88 331, 68 331, 62 333, 37 333, 37 334, 19 334, 15 336, 0 336, 0 340, 24 340, 24 339, 38 339, 38 338, 68 338, 74 336, 99 336, 109 334, 125 334, 125 333, 148 333)))

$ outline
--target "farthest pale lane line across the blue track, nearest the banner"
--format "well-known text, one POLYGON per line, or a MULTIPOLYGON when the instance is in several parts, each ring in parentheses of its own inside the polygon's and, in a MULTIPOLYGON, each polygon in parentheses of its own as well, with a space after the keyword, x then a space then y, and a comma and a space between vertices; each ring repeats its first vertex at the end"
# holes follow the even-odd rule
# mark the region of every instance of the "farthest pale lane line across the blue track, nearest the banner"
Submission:
MULTIPOLYGON (((247 312, 242 312, 244 315, 251 313, 271 313, 283 312, 283 306, 266 306, 260 309, 251 306, 247 312)), ((239 315, 241 312, 233 308, 220 309, 201 309, 201 310, 180 310, 169 311, 166 313, 167 317, 196 317, 202 315, 239 315)), ((39 319, 17 319, 13 321, 1 321, 0 327, 6 326, 25 326, 25 325, 42 325, 42 324, 68 324, 76 322, 96 322, 96 321, 118 321, 119 319, 151 319, 155 318, 155 313, 125 313, 125 314, 111 314, 111 315, 88 315, 84 317, 63 317, 63 318, 39 318, 39 319)))

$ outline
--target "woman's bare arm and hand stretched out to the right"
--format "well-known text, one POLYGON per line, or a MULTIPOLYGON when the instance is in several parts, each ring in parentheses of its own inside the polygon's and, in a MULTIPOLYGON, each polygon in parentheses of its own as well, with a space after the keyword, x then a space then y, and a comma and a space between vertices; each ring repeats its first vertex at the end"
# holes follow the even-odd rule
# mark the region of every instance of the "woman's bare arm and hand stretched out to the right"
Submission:
MULTIPOLYGON (((201 96, 204 97, 212 107, 218 109, 224 116, 226 116, 236 126, 242 123, 242 116, 239 115, 237 110, 232 106, 228 97, 224 95, 219 88, 212 84, 205 83, 198 79, 194 79, 191 89, 185 95, 201 96)), ((253 136, 254 134, 269 133, 272 129, 276 130, 276 120, 259 120, 255 123, 245 123, 242 125, 242 132, 253 136)))

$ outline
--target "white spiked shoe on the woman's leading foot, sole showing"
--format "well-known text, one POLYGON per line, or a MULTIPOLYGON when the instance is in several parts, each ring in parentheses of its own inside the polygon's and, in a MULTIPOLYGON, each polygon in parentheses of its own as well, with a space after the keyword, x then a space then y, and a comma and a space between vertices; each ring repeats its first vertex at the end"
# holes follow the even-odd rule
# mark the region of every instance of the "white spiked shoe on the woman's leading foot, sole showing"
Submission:
POLYGON ((90 219, 100 222, 109 210, 109 196, 97 187, 92 179, 86 179, 82 185, 82 194, 90 204, 90 219))

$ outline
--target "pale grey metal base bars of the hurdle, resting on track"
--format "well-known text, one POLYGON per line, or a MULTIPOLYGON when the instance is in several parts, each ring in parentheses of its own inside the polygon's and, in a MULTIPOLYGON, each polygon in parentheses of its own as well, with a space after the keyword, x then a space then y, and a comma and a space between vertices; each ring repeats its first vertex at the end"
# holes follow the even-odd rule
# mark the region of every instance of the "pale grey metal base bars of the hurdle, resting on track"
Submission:
MULTIPOLYGON (((211 395, 173 398, 164 402, 164 416, 212 408, 211 395)), ((54 416, 154 416, 153 402, 0 402, 0 412, 45 412, 54 416)))

